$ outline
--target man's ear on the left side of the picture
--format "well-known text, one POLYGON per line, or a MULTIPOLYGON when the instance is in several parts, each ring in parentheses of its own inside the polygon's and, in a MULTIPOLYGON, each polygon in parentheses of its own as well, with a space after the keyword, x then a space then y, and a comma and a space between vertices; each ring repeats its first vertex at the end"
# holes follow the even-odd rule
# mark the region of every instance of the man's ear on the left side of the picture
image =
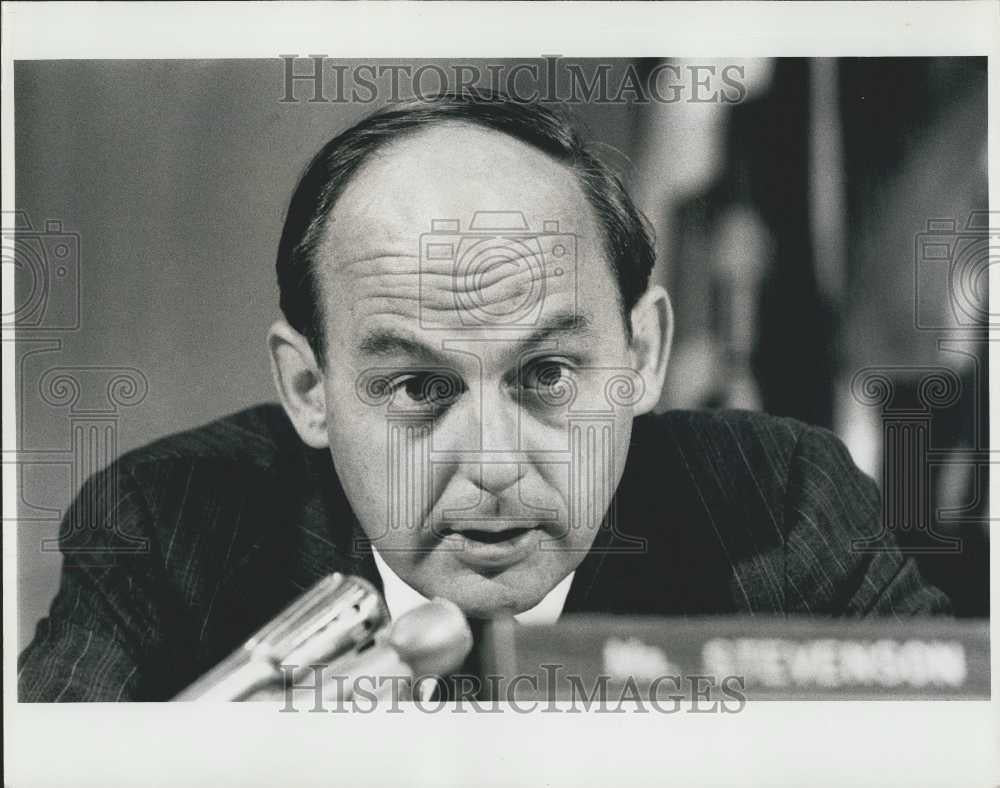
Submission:
POLYGON ((323 370, 309 342, 284 320, 267 332, 271 351, 271 374, 288 418, 306 445, 324 449, 330 445, 326 433, 326 391, 323 370))

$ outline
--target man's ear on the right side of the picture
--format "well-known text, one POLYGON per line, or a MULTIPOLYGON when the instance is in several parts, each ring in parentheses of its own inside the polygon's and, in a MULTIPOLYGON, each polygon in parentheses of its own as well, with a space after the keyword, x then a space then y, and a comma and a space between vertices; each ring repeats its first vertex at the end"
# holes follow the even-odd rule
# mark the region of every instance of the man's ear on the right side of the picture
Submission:
POLYGON ((645 389, 635 404, 635 415, 656 407, 663 391, 674 340, 674 310, 670 296, 659 285, 650 287, 632 308, 632 368, 642 375, 645 389))

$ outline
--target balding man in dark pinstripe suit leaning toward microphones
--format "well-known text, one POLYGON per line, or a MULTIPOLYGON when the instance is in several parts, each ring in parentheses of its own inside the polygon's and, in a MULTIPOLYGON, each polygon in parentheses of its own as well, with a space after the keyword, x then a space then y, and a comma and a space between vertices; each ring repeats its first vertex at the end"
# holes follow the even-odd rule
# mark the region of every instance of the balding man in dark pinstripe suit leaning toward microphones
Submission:
POLYGON ((891 538, 852 548, 878 495, 829 433, 653 414, 653 261, 619 181, 542 107, 449 95, 335 137, 279 246, 282 407, 88 483, 21 699, 169 698, 333 571, 394 616, 435 596, 525 623, 946 609, 891 538), (80 533, 105 549, 84 560, 80 533))

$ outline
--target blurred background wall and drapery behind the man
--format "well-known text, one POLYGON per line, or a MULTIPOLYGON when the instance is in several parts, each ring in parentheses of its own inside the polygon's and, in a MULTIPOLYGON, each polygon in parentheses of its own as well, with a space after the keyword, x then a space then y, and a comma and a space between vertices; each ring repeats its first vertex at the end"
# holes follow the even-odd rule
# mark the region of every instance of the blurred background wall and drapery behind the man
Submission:
MULTIPOLYGON (((960 614, 985 615, 985 59, 559 66, 557 94, 573 89, 567 66, 611 86, 572 109, 656 231, 678 320, 662 407, 794 416, 835 430, 884 486, 922 485, 926 500, 888 496, 888 527, 960 614), (692 100, 727 66, 737 100, 692 100), (664 73, 682 75, 678 100, 644 93, 664 73)), ((17 266, 4 339, 16 321, 19 647, 55 593, 52 540, 89 473, 274 399, 264 336, 286 200, 323 142, 391 98, 310 101, 307 82, 281 101, 286 68, 15 64, 3 261, 17 266)))

